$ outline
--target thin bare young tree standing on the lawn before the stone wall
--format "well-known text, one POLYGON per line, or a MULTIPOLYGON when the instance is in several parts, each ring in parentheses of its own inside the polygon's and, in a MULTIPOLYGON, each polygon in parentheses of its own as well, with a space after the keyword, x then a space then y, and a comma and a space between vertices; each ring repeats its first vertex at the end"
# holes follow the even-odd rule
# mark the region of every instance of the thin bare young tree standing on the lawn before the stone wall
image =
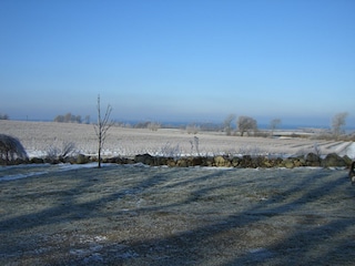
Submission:
POLYGON ((106 111, 102 117, 101 115, 101 106, 100 106, 100 95, 98 95, 98 123, 94 124, 94 130, 98 136, 98 154, 99 154, 99 161, 98 161, 98 167, 101 168, 101 152, 104 144, 104 141, 108 135, 109 129, 113 125, 113 121, 109 121, 110 114, 112 112, 112 108, 109 104, 106 108, 106 111))

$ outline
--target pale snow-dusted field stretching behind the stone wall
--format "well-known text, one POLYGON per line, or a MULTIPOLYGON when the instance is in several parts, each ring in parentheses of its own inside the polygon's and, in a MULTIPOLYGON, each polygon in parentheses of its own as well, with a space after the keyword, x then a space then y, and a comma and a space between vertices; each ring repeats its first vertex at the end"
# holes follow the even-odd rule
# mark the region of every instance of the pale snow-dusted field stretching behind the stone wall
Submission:
MULTIPOLYGON (((0 133, 18 137, 30 157, 43 156, 51 149, 62 149, 73 142, 78 153, 97 154, 97 136, 93 125, 54 122, 0 121, 0 133)), ((109 130, 103 153, 108 156, 151 155, 270 155, 291 156, 321 150, 326 155, 335 152, 355 158, 352 142, 318 141, 297 137, 240 137, 226 136, 222 132, 187 134, 185 130, 126 129, 113 126, 109 130)))

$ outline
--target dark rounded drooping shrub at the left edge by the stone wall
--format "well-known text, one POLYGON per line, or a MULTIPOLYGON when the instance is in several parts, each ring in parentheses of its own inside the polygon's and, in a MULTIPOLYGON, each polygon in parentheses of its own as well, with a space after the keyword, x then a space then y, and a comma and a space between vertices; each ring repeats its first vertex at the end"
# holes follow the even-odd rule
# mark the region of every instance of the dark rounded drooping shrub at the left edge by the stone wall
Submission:
POLYGON ((13 136, 0 134, 0 161, 8 164, 16 158, 28 158, 21 142, 13 136))

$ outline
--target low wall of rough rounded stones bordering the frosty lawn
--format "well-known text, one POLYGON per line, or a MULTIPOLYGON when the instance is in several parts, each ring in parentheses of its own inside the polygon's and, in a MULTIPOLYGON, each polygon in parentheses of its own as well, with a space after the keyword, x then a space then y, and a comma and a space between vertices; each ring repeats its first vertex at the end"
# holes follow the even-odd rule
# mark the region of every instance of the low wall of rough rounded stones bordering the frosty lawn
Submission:
MULTIPOLYGON (((59 157, 59 158, 39 158, 17 160, 12 164, 31 164, 31 163, 70 163, 70 164, 85 164, 98 162, 95 156, 85 156, 79 154, 74 157, 59 157)), ((297 157, 265 157, 265 156, 189 156, 189 157, 162 157, 152 156, 150 154, 139 154, 132 158, 128 157, 106 157, 102 163, 115 164, 135 164, 141 163, 150 166, 166 165, 170 167, 190 167, 190 166, 211 166, 211 167, 250 167, 250 168, 270 168, 270 167, 302 167, 302 166, 321 166, 321 167, 349 167, 352 160, 348 156, 339 156, 336 153, 331 153, 325 157, 320 157, 317 154, 308 153, 297 157)))

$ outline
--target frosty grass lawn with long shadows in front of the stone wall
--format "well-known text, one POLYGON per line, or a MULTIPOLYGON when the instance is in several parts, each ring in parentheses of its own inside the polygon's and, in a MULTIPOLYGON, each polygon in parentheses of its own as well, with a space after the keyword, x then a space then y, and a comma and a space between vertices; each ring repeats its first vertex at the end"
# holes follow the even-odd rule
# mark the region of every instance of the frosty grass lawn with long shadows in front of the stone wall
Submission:
POLYGON ((355 265, 354 200, 345 170, 7 166, 0 265, 355 265))

